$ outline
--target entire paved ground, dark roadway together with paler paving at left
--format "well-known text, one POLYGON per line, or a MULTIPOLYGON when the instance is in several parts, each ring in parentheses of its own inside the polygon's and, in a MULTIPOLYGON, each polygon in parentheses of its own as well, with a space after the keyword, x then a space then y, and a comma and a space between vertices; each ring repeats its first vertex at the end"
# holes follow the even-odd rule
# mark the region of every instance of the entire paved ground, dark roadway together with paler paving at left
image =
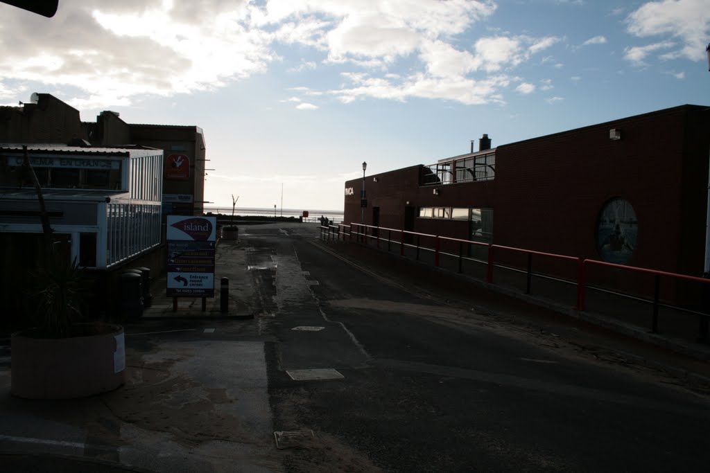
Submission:
POLYGON ((648 347, 366 251, 242 227, 254 318, 129 323, 101 396, 13 398, 0 350, 0 469, 707 471, 710 390, 648 347))

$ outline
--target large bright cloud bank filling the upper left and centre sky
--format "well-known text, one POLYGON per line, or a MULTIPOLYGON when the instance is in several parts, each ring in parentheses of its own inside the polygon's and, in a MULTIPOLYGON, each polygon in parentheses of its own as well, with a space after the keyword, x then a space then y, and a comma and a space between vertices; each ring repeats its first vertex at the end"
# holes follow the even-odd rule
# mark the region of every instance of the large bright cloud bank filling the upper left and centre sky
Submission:
POLYGON ((217 90, 268 71, 286 46, 308 53, 290 72, 318 65, 328 80, 351 74, 340 87, 322 80, 303 94, 501 103, 506 74, 560 39, 464 40, 496 9, 493 0, 62 0, 48 21, 8 8, 0 99, 18 80, 73 94, 64 99, 82 108, 217 90))

